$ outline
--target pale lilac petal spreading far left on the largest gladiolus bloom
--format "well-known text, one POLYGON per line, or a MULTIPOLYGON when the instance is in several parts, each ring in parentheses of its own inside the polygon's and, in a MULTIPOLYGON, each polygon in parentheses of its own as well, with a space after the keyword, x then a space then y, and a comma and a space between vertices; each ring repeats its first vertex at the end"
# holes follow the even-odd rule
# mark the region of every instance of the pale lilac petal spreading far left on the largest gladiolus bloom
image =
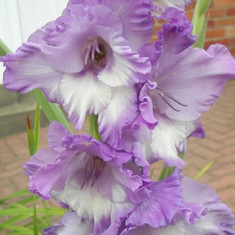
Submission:
POLYGON ((59 82, 63 73, 48 65, 39 45, 28 42, 15 54, 1 57, 6 70, 3 83, 6 89, 20 93, 40 88, 46 98, 61 103, 59 82))

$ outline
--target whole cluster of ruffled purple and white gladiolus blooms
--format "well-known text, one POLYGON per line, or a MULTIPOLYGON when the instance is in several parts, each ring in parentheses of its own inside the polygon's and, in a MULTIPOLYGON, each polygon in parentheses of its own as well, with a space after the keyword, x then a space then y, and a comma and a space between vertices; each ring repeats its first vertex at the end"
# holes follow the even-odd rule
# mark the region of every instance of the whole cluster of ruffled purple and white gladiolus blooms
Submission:
POLYGON ((209 186, 184 177, 187 138, 235 77, 226 47, 193 48, 189 0, 70 0, 62 16, 1 57, 4 85, 39 88, 77 129, 98 116, 102 140, 48 129, 48 148, 24 165, 31 192, 69 208, 48 235, 234 234, 231 210, 209 186), (153 18, 164 19, 150 43, 153 18), (163 160, 175 167, 160 181, 163 160))

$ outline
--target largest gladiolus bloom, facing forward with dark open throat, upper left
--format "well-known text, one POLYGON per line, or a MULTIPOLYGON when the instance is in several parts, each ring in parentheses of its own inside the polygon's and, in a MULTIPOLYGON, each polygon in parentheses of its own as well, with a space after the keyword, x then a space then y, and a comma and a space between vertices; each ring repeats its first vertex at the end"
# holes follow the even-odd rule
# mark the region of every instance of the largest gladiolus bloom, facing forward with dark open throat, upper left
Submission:
POLYGON ((115 145, 137 116, 134 84, 151 70, 138 49, 151 40, 151 1, 71 1, 61 17, 33 33, 5 62, 11 91, 40 88, 82 128, 98 115, 104 141, 115 145))

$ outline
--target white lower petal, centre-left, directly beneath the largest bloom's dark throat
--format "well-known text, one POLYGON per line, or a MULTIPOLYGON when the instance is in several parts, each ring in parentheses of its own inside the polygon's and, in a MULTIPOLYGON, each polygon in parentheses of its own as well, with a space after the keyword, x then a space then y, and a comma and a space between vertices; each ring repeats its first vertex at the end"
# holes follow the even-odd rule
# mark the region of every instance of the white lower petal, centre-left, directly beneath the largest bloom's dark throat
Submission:
POLYGON ((111 101, 111 87, 97 82, 92 71, 64 74, 59 89, 68 118, 78 129, 82 128, 86 113, 97 115, 111 101))

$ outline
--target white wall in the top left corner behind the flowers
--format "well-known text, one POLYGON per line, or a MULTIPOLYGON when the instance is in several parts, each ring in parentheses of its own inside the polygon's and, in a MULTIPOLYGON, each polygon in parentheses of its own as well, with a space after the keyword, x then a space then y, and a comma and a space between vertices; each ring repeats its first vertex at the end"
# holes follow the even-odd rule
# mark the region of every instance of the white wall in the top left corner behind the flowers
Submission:
MULTIPOLYGON (((0 0, 0 38, 15 51, 30 34, 61 15, 68 0, 0 0)), ((0 64, 0 84, 3 66, 0 64)))

